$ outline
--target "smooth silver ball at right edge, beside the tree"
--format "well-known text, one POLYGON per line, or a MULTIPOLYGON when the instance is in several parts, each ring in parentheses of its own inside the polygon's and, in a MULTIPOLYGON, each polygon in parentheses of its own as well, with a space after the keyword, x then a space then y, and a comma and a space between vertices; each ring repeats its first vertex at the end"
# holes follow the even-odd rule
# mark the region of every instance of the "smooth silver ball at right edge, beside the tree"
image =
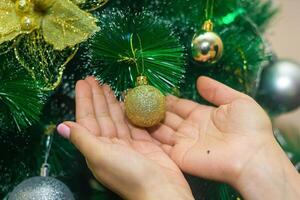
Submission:
POLYGON ((279 60, 264 68, 257 100, 274 114, 299 107, 300 65, 289 60, 279 60))

